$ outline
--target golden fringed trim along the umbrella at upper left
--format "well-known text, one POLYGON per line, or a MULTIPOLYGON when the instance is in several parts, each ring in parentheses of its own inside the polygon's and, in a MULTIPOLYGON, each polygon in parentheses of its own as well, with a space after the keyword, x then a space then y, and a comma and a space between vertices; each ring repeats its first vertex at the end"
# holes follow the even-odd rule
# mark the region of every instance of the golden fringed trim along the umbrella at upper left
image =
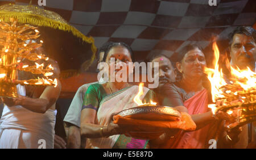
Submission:
POLYGON ((32 5, 12 5, 7 4, 0 6, 0 19, 5 22, 10 22, 10 18, 17 19, 19 23, 37 25, 42 27, 50 27, 59 29, 61 31, 72 32, 76 37, 82 39, 83 42, 91 44, 91 50, 93 52, 90 60, 86 60, 84 70, 86 71, 93 63, 96 55, 96 46, 94 45, 93 37, 86 37, 75 27, 68 24, 59 14, 53 11, 44 10, 37 6, 32 5))

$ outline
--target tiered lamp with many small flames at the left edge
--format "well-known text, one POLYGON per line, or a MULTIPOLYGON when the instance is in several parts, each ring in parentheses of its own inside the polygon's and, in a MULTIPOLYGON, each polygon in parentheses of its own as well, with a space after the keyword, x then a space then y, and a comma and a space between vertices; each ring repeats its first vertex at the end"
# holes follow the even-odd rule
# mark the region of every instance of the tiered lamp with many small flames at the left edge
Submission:
POLYGON ((51 65, 44 68, 44 64, 35 63, 28 66, 20 62, 20 59, 36 61, 48 60, 45 55, 39 55, 32 50, 41 47, 36 42, 26 43, 27 40, 40 37, 36 27, 28 24, 17 25, 18 21, 10 19, 11 24, 0 20, 0 97, 18 97, 16 85, 57 85, 56 80, 49 79, 53 73, 51 65), (44 75, 45 79, 18 80, 17 71, 31 72, 35 75, 44 75))

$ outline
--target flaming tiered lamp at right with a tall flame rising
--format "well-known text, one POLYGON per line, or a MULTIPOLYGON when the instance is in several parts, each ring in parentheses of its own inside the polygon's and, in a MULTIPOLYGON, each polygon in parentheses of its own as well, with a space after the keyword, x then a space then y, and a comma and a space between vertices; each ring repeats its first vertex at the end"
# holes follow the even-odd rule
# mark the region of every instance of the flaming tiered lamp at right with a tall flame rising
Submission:
POLYGON ((235 123, 229 125, 230 128, 241 126, 256 120, 256 73, 247 70, 240 70, 230 66, 231 77, 224 79, 222 70, 219 71, 218 59, 220 52, 216 42, 213 43, 214 69, 205 68, 205 73, 211 84, 212 101, 208 107, 213 114, 224 111, 232 114, 237 113, 235 123))

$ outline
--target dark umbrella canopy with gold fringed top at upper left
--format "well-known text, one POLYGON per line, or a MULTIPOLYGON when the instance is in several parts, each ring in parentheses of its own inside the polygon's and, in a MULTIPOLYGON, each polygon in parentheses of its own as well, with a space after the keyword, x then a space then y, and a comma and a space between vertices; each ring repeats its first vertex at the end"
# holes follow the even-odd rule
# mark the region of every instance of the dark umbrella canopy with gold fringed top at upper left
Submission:
POLYGON ((32 5, 7 4, 0 6, 0 19, 39 27, 43 47, 49 58, 57 60, 62 72, 86 71, 92 64, 96 46, 92 37, 86 37, 59 14, 32 5))

